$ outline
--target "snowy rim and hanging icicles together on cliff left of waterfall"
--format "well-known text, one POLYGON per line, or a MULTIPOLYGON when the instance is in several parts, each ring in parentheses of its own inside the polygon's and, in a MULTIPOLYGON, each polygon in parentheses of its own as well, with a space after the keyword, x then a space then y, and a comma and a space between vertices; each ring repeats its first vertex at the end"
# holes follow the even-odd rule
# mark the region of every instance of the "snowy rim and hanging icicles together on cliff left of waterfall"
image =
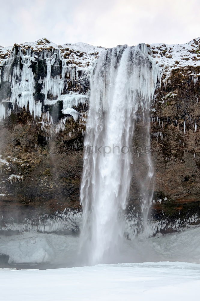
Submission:
MULTIPOLYGON (((12 50, 0 48, 1 58, 5 57, 0 61, 3 91, 0 121, 8 117, 11 110, 25 108, 41 123, 41 118, 44 119, 43 115, 48 112, 45 106, 55 105, 58 101, 62 101, 64 115, 72 116, 75 121, 80 119, 82 116, 77 107, 80 104, 87 106, 90 69, 102 50, 102 47, 84 43, 57 46, 47 39, 15 45, 12 50), (8 86, 10 94, 4 92, 9 91, 8 86)), ((61 118, 62 124, 68 120, 66 116, 61 118)), ((56 131, 62 129, 58 125, 56 131)), ((52 132, 55 132, 55 126, 52 132)))

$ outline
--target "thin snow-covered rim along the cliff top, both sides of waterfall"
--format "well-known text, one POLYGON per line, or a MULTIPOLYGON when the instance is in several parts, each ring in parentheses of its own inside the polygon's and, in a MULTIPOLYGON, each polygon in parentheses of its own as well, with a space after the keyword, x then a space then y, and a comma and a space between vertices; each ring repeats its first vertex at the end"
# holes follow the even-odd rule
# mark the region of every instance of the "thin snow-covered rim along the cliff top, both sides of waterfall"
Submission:
MULTIPOLYGON (((95 61, 98 54, 106 49, 104 47, 92 46, 86 43, 66 43, 56 45, 48 39, 40 39, 36 42, 26 42, 19 46, 22 51, 31 48, 32 51, 41 52, 43 50, 57 49, 61 53, 61 58, 67 59, 69 64, 73 63, 79 67, 89 67, 95 61)), ((193 39, 186 44, 151 44, 147 45, 155 58, 157 64, 164 67, 164 72, 171 72, 172 69, 184 66, 200 66, 200 38, 193 39)), ((0 64, 7 60, 12 51, 12 47, 0 46, 0 64)))

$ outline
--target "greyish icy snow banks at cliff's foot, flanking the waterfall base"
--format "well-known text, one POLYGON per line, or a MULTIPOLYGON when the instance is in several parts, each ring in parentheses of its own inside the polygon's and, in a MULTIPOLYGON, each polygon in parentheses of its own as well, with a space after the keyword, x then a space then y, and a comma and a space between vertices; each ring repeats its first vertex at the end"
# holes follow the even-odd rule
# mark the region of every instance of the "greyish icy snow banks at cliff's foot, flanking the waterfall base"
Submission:
MULTIPOLYGON (((200 227, 149 239, 124 239, 116 257, 105 263, 182 261, 200 263, 200 227)), ((84 265, 79 254, 79 237, 71 235, 23 232, 1 235, 0 254, 9 263, 29 263, 71 267, 84 265)), ((1 264, 0 264, 1 267, 1 264)), ((12 266, 11 266, 12 267, 12 266)))

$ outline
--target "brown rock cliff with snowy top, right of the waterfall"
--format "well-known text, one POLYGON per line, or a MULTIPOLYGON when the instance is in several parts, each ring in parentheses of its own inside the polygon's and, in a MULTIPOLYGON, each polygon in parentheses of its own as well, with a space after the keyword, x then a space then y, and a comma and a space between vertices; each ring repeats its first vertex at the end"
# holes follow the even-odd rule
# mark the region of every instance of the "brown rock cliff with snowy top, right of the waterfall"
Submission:
POLYGON ((160 54, 166 67, 156 91, 151 135, 155 190, 167 201, 155 209, 160 215, 164 211, 165 218, 184 220, 199 217, 200 211, 200 39, 174 47, 162 45, 155 55, 160 54), (174 55, 171 48, 176 48, 174 55))

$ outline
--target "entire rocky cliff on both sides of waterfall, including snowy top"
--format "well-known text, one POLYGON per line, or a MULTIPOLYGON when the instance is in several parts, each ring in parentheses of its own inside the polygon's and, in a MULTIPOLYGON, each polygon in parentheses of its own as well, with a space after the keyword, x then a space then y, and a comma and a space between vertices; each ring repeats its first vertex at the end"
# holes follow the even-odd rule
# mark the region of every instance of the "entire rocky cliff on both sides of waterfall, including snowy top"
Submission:
MULTIPOLYGON (((163 70, 151 110, 152 214, 171 223, 198 222, 200 39, 147 46, 163 70)), ((0 48, 2 226, 80 206, 89 75, 102 50, 84 43, 57 46, 47 39, 0 48)), ((138 115, 136 145, 143 127, 138 115)), ((139 156, 135 165, 142 160, 139 156)), ((133 175, 129 203, 134 206, 135 183, 133 175)))

